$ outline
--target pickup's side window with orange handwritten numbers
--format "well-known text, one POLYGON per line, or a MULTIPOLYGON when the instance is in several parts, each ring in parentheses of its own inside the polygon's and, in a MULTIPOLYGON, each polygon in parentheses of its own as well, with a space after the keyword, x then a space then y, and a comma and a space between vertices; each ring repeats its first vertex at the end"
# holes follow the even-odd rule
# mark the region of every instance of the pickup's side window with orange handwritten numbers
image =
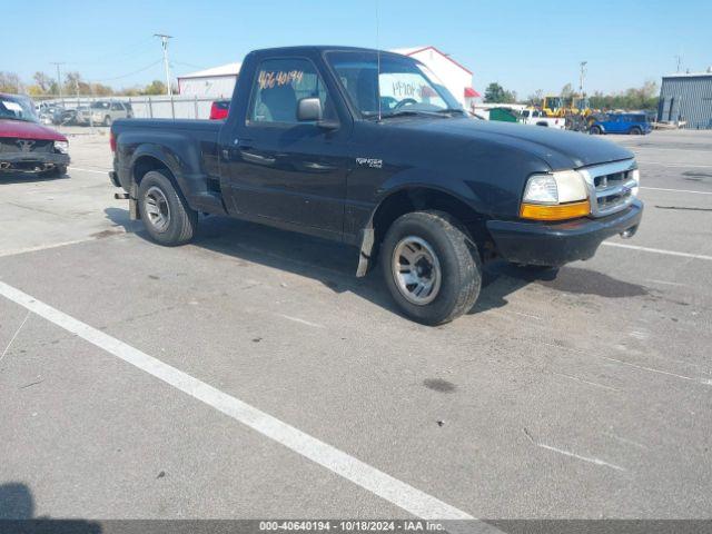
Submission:
POLYGON ((307 59, 268 59, 257 69, 248 123, 296 125, 297 102, 318 98, 324 118, 336 118, 326 87, 307 59))

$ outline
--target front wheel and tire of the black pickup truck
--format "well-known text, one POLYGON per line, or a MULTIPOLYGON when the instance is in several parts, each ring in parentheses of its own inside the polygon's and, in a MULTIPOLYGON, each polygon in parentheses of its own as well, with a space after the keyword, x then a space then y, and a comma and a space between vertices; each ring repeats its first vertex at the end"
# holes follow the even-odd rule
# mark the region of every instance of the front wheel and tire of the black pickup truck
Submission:
POLYGON ((424 325, 449 323, 468 312, 479 296, 477 247, 442 211, 414 211, 396 219, 380 246, 380 266, 396 304, 424 325))

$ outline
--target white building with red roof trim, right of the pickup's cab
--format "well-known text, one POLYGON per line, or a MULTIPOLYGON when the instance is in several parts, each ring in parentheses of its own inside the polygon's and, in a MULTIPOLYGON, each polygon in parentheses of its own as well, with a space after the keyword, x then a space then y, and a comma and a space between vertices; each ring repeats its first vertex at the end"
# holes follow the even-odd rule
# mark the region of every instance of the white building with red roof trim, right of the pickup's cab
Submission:
POLYGON ((397 48, 390 51, 409 56, 425 65, 465 109, 473 108, 475 98, 479 97, 479 93, 472 87, 472 71, 437 48, 413 47, 397 48))

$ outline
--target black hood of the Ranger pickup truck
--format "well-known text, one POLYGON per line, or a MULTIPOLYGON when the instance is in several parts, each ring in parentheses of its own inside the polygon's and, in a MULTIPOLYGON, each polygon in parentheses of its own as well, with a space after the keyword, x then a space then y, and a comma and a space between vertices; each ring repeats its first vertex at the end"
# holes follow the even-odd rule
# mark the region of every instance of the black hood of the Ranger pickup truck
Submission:
POLYGON ((633 158, 625 148, 600 137, 543 126, 462 119, 408 117, 390 119, 393 127, 511 146, 544 160, 552 170, 586 167, 633 158))

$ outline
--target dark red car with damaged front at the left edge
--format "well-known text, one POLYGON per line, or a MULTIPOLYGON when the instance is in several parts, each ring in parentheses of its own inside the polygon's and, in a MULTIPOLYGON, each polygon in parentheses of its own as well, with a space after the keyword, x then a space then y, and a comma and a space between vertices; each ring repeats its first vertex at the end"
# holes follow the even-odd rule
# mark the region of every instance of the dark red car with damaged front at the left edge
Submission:
POLYGON ((69 141, 42 126, 32 100, 0 92, 0 171, 63 175, 69 141))

